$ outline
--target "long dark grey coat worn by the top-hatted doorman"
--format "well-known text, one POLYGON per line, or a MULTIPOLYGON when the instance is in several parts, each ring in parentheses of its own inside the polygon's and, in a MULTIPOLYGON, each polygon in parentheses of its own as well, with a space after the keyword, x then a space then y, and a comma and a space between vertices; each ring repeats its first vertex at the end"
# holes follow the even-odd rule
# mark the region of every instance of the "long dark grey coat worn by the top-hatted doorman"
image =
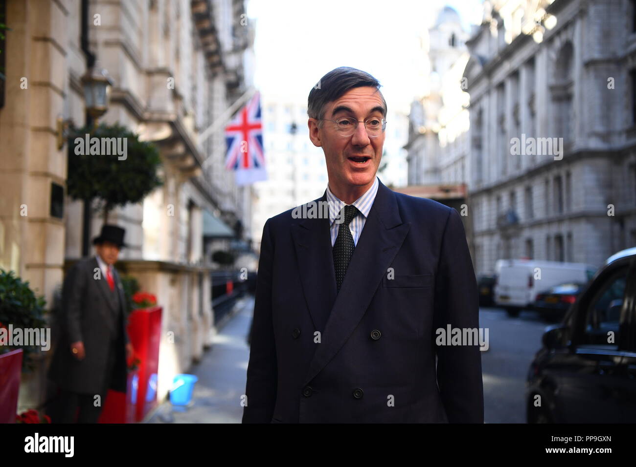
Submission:
POLYGON ((125 295, 119 273, 114 267, 115 290, 108 287, 106 276, 95 279, 99 264, 95 257, 78 261, 71 268, 62 288, 62 309, 58 318, 58 335, 53 337, 55 353, 48 377, 60 388, 83 394, 101 394, 106 384, 116 391, 126 391, 125 295), (116 340, 113 378, 106 382, 106 364, 111 339, 116 340), (86 356, 77 360, 71 342, 83 341, 86 356))

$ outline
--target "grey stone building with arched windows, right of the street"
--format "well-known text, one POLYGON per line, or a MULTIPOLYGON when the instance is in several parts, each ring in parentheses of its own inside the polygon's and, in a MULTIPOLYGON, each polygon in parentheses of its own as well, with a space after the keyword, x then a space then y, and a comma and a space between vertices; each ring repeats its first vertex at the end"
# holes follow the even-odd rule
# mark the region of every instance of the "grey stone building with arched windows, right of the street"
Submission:
POLYGON ((487 2, 467 45, 477 273, 636 245, 634 3, 487 2))

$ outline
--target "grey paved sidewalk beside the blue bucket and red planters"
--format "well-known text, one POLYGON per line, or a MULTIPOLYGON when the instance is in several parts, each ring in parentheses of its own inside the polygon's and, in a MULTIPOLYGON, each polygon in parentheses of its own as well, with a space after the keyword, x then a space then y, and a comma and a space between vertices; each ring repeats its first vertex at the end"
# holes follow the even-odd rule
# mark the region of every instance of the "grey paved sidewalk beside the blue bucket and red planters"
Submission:
POLYGON ((146 423, 240 423, 249 347, 245 341, 254 309, 247 295, 235 304, 235 315, 214 336, 211 348, 187 372, 198 381, 188 407, 163 402, 146 423))

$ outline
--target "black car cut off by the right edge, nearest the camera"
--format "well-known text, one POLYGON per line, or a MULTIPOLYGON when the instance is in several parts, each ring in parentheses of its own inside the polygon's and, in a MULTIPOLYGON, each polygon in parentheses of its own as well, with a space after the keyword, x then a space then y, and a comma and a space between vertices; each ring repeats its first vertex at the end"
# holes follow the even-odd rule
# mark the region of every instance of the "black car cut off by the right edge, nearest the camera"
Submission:
POLYGON ((636 248, 607 259, 527 376, 529 423, 636 423, 636 248))

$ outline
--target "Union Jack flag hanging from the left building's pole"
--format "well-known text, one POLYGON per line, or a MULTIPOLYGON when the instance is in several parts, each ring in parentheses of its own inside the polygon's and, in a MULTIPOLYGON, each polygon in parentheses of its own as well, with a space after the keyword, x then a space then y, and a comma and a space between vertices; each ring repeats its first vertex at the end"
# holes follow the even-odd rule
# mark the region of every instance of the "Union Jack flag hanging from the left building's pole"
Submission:
POLYGON ((226 126, 225 142, 227 145, 225 168, 235 170, 239 184, 264 180, 263 125, 258 91, 230 122, 230 125, 226 126))

